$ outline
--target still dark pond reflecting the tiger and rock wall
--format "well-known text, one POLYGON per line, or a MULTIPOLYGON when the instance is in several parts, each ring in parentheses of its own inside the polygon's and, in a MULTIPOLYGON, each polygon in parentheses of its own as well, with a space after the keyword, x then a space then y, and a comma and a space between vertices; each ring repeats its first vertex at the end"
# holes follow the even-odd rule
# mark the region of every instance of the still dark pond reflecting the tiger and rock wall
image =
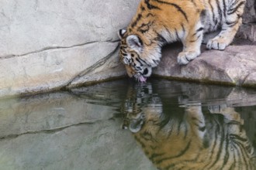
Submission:
POLYGON ((0 100, 0 169, 256 169, 256 90, 115 80, 0 100))

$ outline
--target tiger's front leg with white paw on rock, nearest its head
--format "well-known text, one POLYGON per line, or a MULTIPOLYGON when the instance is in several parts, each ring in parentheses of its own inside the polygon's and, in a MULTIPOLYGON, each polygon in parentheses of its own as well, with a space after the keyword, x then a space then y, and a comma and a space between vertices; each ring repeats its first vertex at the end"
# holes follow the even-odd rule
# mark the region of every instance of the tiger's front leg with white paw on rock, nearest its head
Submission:
POLYGON ((180 65, 185 65, 189 63, 189 61, 195 59, 195 57, 200 55, 202 37, 202 25, 197 26, 197 28, 194 31, 189 32, 189 35, 185 38, 185 41, 183 42, 183 51, 178 54, 178 63, 180 65))

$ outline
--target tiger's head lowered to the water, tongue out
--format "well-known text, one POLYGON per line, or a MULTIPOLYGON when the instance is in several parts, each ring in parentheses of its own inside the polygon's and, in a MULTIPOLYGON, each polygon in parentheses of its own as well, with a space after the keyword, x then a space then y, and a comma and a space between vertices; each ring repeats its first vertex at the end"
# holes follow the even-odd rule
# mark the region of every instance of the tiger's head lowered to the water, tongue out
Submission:
POLYGON ((126 66, 128 76, 145 82, 152 73, 152 68, 157 66, 161 58, 161 48, 157 43, 150 45, 141 36, 119 30, 120 51, 119 58, 126 66))

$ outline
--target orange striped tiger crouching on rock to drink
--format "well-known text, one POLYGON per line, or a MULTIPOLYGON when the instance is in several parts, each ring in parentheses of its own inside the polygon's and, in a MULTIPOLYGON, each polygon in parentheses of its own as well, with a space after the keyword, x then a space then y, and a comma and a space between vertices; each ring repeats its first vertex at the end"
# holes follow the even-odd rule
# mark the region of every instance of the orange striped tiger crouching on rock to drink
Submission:
POLYGON ((177 62, 183 66, 201 54, 203 36, 207 49, 223 50, 233 41, 246 0, 141 0, 126 29, 119 29, 119 59, 128 76, 145 82, 161 60, 161 48, 182 42, 177 62))

